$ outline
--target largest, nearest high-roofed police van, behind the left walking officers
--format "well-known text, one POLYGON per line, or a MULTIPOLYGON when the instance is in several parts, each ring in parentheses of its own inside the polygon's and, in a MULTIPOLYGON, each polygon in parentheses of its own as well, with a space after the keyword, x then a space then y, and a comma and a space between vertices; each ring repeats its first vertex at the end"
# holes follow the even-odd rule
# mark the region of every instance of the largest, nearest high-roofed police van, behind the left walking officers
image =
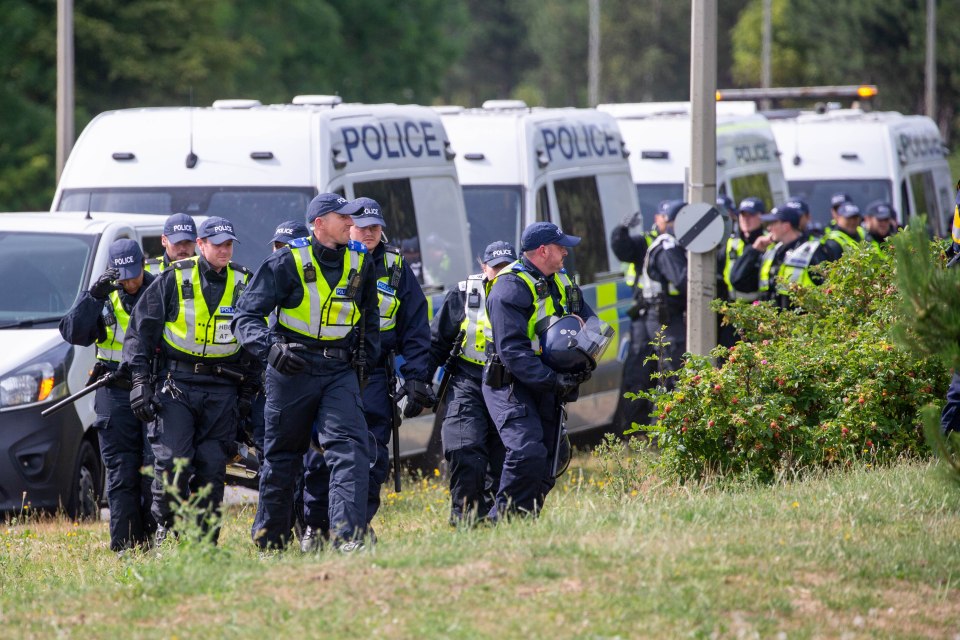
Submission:
MULTIPOLYGON (((454 152, 440 117, 416 105, 218 100, 211 107, 108 111, 77 139, 53 210, 223 216, 240 242, 234 260, 256 269, 275 227, 302 220, 321 192, 383 206, 432 310, 475 270, 454 152)), ((404 457, 426 451, 429 418, 401 430, 404 457)))

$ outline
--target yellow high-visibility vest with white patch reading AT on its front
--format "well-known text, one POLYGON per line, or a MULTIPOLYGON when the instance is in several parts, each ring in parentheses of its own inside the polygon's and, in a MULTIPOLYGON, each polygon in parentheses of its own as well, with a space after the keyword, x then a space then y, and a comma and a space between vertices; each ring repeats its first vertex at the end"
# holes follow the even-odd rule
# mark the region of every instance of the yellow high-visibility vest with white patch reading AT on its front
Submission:
POLYGON ((174 269, 179 309, 176 319, 163 325, 164 341, 177 351, 202 358, 225 358, 237 353, 240 343, 230 330, 230 321, 237 280, 245 280, 246 276, 232 266, 226 267, 226 288, 211 313, 203 297, 197 258, 181 260, 174 269), (183 295, 185 285, 190 289, 187 297, 183 295))

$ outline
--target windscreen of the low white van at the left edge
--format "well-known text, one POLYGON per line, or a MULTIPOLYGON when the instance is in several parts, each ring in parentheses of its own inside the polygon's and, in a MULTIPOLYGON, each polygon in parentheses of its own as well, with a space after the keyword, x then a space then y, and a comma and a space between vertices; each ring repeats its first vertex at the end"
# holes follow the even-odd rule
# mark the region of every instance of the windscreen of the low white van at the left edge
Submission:
POLYGON ((63 316, 80 292, 94 240, 0 231, 0 324, 63 316))

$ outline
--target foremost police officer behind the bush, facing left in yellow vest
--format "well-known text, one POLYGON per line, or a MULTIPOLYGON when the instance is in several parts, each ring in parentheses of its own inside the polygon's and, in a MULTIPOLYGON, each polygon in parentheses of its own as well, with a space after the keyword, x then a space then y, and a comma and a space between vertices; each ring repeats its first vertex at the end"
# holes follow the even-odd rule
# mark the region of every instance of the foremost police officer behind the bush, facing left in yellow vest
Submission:
POLYGON ((810 267, 830 259, 819 240, 810 240, 801 231, 805 204, 790 200, 769 214, 760 216, 767 223, 768 235, 760 236, 746 247, 733 267, 731 281, 742 292, 757 291, 761 300, 773 300, 781 309, 790 306, 790 283, 812 286, 822 281, 810 273, 810 267))

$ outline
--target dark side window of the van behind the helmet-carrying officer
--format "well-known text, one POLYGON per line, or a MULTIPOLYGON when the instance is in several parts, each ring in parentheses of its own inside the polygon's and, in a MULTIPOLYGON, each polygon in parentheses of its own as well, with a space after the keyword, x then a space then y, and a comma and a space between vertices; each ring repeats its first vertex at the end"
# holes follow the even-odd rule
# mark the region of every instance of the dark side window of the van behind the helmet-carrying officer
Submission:
POLYGON ((567 272, 578 273, 581 284, 594 282, 597 274, 610 271, 597 179, 591 176, 557 180, 553 189, 560 210, 560 228, 581 238, 564 261, 567 272))

